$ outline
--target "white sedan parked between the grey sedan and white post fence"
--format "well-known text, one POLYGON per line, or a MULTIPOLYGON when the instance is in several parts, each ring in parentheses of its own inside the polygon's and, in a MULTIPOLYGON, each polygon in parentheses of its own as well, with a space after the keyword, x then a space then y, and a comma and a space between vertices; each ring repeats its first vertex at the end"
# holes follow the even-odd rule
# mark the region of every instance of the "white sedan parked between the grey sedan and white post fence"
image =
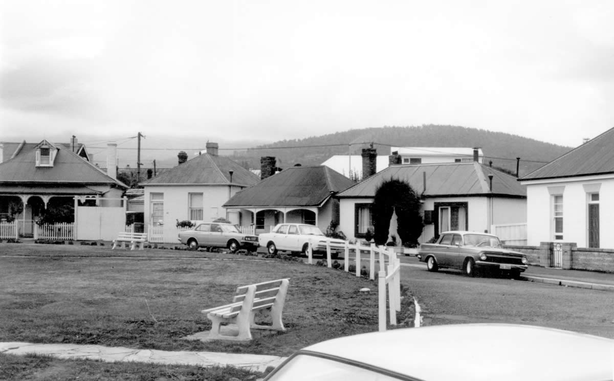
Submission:
POLYGON ((262 233, 258 236, 260 246, 266 247, 269 254, 276 254, 278 251, 305 254, 308 244, 311 244, 314 253, 326 255, 327 241, 330 242, 332 258, 337 258, 338 253, 344 250, 346 241, 328 238, 314 225, 280 223, 271 233, 262 233))

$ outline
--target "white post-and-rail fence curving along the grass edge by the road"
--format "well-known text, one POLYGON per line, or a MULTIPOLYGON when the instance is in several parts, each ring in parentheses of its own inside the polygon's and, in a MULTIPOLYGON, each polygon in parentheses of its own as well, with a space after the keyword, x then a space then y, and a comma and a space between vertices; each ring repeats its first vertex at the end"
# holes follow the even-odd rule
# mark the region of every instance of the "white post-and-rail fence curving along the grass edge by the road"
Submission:
MULTIPOLYGON (((401 261, 398 259, 394 248, 385 246, 376 247, 375 244, 362 246, 349 244, 346 241, 344 247, 344 271, 349 272, 350 251, 354 252, 354 264, 356 276, 360 277, 362 269, 362 256, 368 255, 369 279, 375 280, 376 264, 379 263, 378 274, 378 328, 386 331, 386 289, 388 294, 388 306, 391 325, 397 325, 397 312, 401 310, 401 261)), ((367 258, 365 258, 367 260, 367 258)), ((326 244, 327 266, 332 267, 330 240, 326 244)), ((313 264, 313 248, 311 244, 307 248, 307 263, 313 264)), ((366 266, 365 266, 366 267, 366 266)))

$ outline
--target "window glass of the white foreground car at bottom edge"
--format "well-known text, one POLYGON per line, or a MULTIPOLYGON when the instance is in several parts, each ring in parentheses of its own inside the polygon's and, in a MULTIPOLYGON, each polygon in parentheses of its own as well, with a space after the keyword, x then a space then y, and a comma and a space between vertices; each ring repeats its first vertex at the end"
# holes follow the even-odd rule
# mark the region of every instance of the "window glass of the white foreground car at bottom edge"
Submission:
POLYGON ((370 369, 359 368, 358 366, 328 360, 327 358, 297 355, 271 375, 270 380, 390 381, 398 379, 396 377, 371 371, 370 369))

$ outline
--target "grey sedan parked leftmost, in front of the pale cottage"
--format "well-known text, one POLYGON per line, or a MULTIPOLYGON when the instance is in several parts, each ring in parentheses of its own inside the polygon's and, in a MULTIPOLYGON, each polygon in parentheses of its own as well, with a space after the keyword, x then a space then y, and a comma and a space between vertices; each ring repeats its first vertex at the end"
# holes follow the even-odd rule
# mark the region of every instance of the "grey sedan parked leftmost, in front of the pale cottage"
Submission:
POLYGON ((258 236, 241 233, 230 223, 205 222, 195 228, 179 233, 179 242, 188 247, 225 247, 231 253, 239 248, 255 252, 258 248, 258 236))

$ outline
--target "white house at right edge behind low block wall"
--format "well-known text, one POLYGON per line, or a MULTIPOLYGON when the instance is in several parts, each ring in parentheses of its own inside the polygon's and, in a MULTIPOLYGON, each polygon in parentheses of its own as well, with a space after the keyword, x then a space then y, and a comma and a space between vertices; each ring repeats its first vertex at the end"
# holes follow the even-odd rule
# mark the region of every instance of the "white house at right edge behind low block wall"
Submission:
POLYGON ((614 248, 614 128, 526 175, 527 240, 614 248))

